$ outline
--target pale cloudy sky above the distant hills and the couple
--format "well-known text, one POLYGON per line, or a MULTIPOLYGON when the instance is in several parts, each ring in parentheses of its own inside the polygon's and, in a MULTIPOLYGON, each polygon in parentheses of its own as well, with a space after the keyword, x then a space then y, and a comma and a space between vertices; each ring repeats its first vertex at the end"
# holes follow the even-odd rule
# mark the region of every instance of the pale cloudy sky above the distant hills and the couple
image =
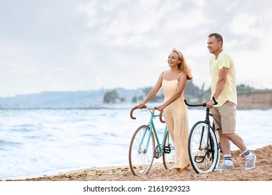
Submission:
POLYGON ((173 47, 209 88, 214 32, 237 85, 272 89, 270 0, 0 0, 0 97, 153 86, 173 47))

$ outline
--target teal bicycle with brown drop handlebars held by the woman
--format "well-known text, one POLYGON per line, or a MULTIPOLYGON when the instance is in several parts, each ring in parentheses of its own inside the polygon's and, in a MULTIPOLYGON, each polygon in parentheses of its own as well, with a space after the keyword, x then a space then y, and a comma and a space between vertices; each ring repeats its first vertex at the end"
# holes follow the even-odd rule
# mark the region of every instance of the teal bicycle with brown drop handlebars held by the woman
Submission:
MULTIPOLYGON (((136 119, 133 116, 133 111, 137 109, 133 107, 130 111, 130 118, 136 119)), ((165 123, 162 119, 163 111, 160 114, 155 114, 156 107, 144 107, 145 111, 150 111, 151 115, 147 125, 141 125, 135 130, 130 141, 130 148, 128 153, 128 160, 130 164, 130 171, 135 176, 145 175, 151 169, 153 159, 163 156, 163 165, 165 169, 172 169, 175 159, 174 142, 169 135, 165 125, 163 139, 160 143, 158 134, 156 132, 154 118, 160 117, 160 122, 165 123)))

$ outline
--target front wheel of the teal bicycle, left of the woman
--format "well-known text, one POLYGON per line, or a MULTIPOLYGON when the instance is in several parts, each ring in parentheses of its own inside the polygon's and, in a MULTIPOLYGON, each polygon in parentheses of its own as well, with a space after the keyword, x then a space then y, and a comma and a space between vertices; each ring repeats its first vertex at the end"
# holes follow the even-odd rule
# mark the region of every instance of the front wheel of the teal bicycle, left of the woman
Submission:
POLYGON ((151 169, 154 159, 155 139, 150 127, 142 125, 137 128, 130 141, 128 160, 130 171, 134 176, 145 175, 151 169), (149 138, 149 133, 151 136, 149 138))

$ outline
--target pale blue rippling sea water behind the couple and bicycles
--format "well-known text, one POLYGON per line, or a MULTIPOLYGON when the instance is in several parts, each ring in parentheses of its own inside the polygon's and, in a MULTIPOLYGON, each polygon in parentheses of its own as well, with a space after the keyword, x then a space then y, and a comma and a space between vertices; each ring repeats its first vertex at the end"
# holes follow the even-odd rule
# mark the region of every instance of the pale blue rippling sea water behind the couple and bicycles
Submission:
MULTIPOLYGON (((130 139, 149 120, 148 111, 135 111, 136 120, 129 114, 130 107, 1 109, 0 180, 128 166, 130 139)), ((204 117, 204 109, 189 109, 189 130, 204 117)), ((161 139, 165 124, 155 122, 161 139)), ((272 110, 237 111, 236 131, 251 148, 272 143, 271 127, 272 110)))

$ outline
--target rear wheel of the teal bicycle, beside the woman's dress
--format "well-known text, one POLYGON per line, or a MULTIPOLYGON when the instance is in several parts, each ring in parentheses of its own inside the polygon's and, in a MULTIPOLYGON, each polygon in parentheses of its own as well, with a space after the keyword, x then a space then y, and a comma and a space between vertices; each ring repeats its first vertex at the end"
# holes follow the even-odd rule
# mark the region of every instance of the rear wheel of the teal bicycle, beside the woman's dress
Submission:
POLYGON ((165 143, 165 146, 163 147, 163 165, 165 166, 165 169, 172 169, 174 167, 176 150, 174 147, 174 141, 172 140, 168 130, 163 143, 165 143))

